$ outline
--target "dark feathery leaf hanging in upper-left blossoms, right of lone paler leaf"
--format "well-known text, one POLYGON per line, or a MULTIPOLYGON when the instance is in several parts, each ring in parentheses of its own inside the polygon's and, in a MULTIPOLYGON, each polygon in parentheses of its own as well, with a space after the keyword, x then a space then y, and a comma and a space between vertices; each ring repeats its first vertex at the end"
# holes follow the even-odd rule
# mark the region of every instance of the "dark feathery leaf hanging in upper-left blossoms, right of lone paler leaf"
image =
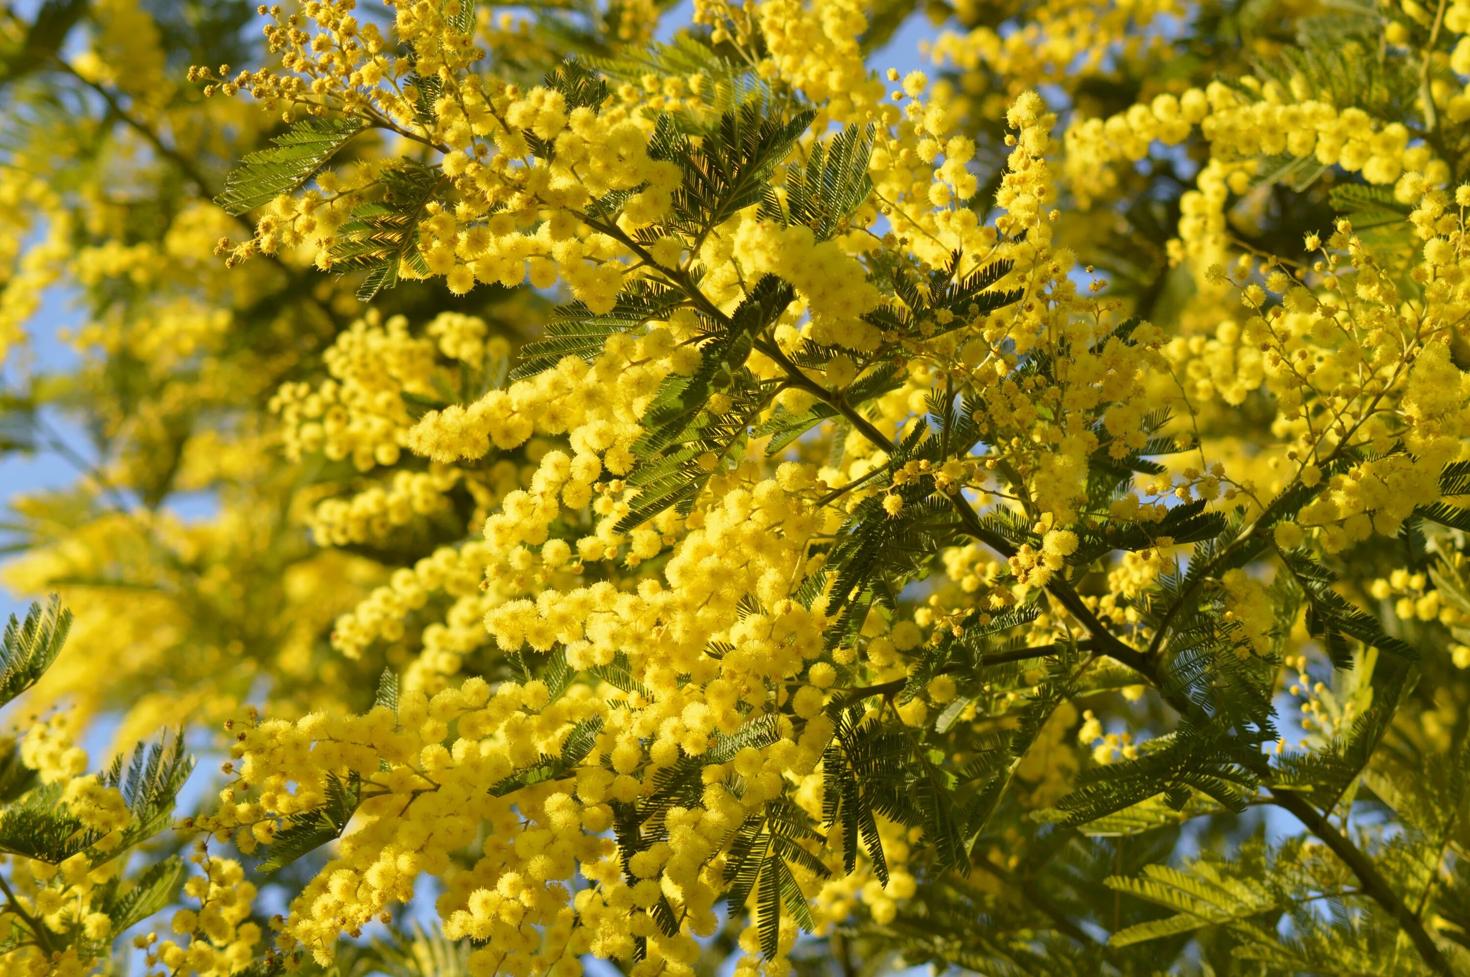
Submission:
POLYGON ((382 289, 397 285, 404 262, 417 275, 429 272, 417 248, 419 222, 438 190, 440 172, 398 160, 379 179, 382 200, 354 207, 353 219, 341 226, 328 253, 332 267, 368 272, 357 288, 360 301, 372 301, 382 289))

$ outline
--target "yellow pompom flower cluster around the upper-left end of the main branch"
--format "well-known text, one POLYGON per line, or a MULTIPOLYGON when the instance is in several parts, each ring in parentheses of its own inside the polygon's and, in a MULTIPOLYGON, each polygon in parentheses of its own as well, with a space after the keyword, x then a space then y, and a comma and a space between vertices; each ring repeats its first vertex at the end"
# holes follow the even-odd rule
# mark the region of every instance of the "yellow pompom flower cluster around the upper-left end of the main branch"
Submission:
MULTIPOLYGON (((404 94, 410 65, 382 53, 373 25, 359 25, 331 3, 310 4, 307 18, 315 34, 285 15, 268 28, 272 46, 285 51, 284 68, 297 73, 243 72, 218 88, 250 91, 268 104, 331 104, 444 154, 437 188, 453 190, 456 203, 428 201, 416 229, 417 254, 403 262, 400 273, 444 276, 454 294, 476 282, 513 286, 529 276, 545 288, 560 279, 594 311, 613 307, 625 275, 616 259, 628 253, 609 232, 662 214, 679 181, 678 167, 648 157, 651 126, 641 116, 626 107, 601 113, 572 107, 556 90, 525 91, 467 72, 476 57, 470 35, 445 10, 406 4, 397 10, 395 32, 417 51, 416 71, 441 76, 432 119, 425 120, 404 94), (554 160, 528 163, 523 132, 554 145, 554 160), (591 201, 616 191, 634 191, 619 228, 594 229, 579 217, 591 201)), ((207 69, 194 75, 212 78, 207 69)), ((360 167, 343 178, 323 176, 320 191, 276 201, 254 238, 232 245, 232 256, 309 244, 316 262, 331 267, 337 228, 384 176, 360 167)))

